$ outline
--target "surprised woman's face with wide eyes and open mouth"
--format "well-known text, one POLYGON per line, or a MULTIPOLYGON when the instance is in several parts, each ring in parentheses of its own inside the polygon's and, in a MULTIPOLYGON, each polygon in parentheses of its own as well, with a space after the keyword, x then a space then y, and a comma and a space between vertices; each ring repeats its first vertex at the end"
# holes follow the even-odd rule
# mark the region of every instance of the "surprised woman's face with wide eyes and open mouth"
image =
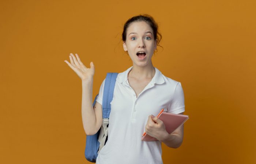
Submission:
POLYGON ((144 21, 133 22, 127 28, 126 42, 123 42, 124 51, 128 51, 133 65, 145 66, 151 62, 157 41, 153 38, 152 28, 144 21), (138 52, 145 54, 138 55, 138 52))

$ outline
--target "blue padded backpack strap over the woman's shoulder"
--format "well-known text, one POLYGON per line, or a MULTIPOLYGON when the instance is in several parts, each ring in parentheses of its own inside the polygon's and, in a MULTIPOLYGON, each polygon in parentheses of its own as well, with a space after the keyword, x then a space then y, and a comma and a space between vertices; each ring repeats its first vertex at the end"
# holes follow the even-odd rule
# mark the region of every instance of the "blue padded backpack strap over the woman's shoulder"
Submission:
POLYGON ((102 100, 102 118, 109 118, 111 110, 110 102, 113 99, 117 75, 118 73, 107 73, 106 75, 102 100))

